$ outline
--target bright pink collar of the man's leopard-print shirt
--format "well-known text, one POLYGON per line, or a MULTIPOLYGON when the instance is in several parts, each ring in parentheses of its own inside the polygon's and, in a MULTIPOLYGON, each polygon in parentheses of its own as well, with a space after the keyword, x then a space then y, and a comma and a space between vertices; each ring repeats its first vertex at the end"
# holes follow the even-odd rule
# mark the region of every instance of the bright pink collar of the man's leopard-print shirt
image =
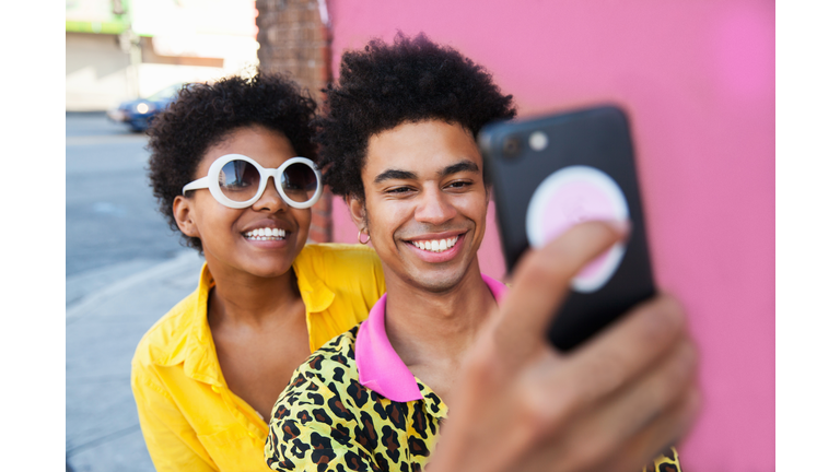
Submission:
MULTIPOLYGON (((497 303, 501 303, 508 287, 485 274, 481 274, 497 303)), ((399 402, 420 400, 423 396, 417 386, 411 370, 399 358, 385 333, 385 294, 371 308, 371 314, 359 326, 355 337, 355 365, 359 368, 359 381, 381 396, 399 402)))

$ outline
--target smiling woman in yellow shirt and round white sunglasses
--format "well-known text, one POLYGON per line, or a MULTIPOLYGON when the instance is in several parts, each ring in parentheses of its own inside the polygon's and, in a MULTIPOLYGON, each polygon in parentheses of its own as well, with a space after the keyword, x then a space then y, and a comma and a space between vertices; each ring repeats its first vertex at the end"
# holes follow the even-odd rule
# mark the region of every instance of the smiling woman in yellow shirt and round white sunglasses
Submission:
POLYGON ((306 245, 314 111, 293 82, 257 73, 185 87, 149 131, 160 210, 207 260, 132 361, 159 471, 265 470, 266 420, 292 371, 385 291, 371 249, 306 245))

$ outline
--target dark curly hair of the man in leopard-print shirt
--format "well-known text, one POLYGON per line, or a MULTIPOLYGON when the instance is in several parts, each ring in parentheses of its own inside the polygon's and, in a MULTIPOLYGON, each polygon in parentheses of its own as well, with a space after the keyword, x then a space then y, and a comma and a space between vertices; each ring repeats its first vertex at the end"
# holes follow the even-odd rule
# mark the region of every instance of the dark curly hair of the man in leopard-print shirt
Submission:
POLYGON ((338 86, 324 90, 327 114, 315 119, 324 180, 334 193, 364 201, 362 167, 370 138, 404 122, 440 119, 477 138, 490 121, 516 115, 483 67, 423 33, 393 45, 373 39, 341 56, 338 86))

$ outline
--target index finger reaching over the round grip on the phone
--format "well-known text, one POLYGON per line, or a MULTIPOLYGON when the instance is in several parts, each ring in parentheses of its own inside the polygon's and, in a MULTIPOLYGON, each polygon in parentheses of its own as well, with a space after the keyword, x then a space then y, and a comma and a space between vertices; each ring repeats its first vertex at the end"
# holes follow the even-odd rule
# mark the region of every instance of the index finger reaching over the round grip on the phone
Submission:
POLYGON ((591 221, 523 256, 494 326, 494 337, 510 365, 518 365, 545 342, 546 329, 571 280, 625 234, 619 223, 591 221))

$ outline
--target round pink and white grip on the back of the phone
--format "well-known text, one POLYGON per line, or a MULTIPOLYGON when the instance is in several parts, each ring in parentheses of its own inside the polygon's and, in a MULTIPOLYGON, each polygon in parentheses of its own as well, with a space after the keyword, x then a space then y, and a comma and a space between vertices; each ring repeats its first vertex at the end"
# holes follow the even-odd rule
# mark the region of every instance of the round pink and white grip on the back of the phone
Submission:
MULTIPOLYGON (((591 220, 625 221, 627 199, 612 178, 588 166, 570 166, 555 172, 530 197, 525 226, 528 243, 542 247, 563 232, 591 220)), ((590 262, 572 280, 572 288, 591 293, 612 276, 625 257, 625 245, 616 244, 590 262)))

